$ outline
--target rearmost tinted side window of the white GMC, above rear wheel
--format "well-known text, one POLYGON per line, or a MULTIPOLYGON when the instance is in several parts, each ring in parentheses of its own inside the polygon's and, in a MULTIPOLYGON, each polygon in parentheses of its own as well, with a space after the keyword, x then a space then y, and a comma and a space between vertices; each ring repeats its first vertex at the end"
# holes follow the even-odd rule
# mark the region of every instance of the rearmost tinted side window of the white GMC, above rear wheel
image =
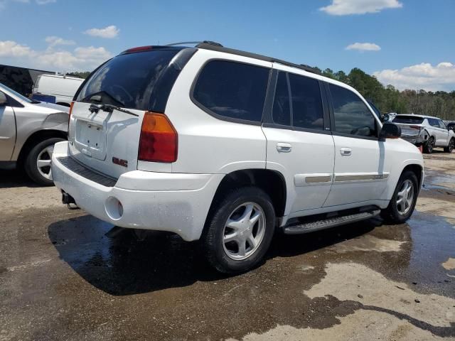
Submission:
POLYGON ((220 117, 260 122, 268 80, 266 67, 212 60, 199 74, 193 99, 220 117))

